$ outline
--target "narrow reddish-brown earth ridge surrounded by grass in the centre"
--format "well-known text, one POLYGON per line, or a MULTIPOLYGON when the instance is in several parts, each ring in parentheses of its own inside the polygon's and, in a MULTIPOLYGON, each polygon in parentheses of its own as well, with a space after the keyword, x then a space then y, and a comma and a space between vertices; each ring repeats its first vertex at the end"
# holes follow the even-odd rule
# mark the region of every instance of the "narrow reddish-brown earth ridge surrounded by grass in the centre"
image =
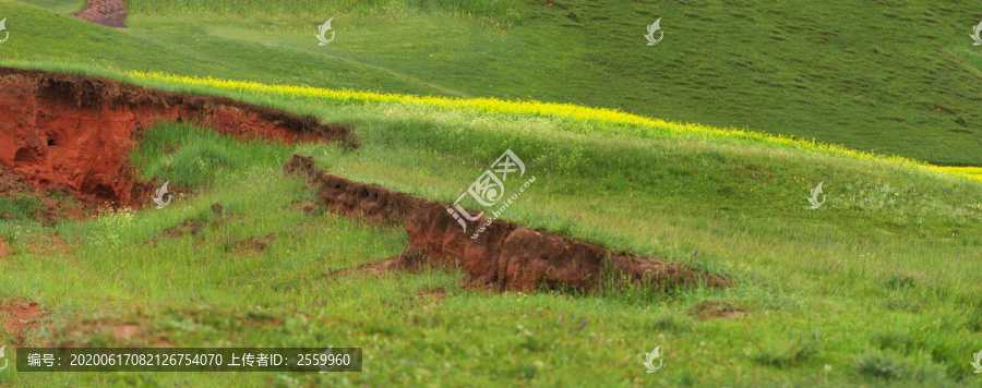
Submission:
POLYGON ((465 232, 447 214, 445 204, 325 173, 314 168, 311 158, 294 155, 283 170, 306 175, 316 187, 319 201, 332 213, 404 225, 411 247, 380 267, 412 266, 409 262, 414 257, 423 256, 440 266, 460 266, 475 282, 494 284, 499 290, 530 290, 538 284, 592 289, 602 282, 604 266, 634 281, 727 286, 720 277, 681 265, 615 253, 500 219, 477 239, 470 239, 484 217, 472 221, 465 232))

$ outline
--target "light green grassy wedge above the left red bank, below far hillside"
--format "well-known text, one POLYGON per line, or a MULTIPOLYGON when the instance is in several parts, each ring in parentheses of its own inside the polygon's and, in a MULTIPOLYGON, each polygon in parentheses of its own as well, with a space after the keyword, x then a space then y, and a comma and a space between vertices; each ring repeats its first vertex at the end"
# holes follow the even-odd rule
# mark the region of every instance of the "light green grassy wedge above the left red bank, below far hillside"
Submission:
MULTIPOLYGON (((228 41, 208 38, 200 27, 159 26, 158 34, 171 31, 188 34, 187 39, 157 40, 153 36, 134 36, 132 31, 116 31, 40 8, 0 1, 0 14, 11 15, 7 27, 11 38, 0 46, 0 62, 14 60, 57 60, 62 63, 87 63, 94 66, 122 66, 136 70, 168 70, 180 74, 220 75, 231 78, 256 78, 259 74, 270 82, 300 82, 313 80, 344 80, 339 87, 364 87, 379 81, 383 85, 416 94, 434 94, 431 87, 414 82, 393 80, 384 71, 364 66, 327 64, 320 71, 306 72, 299 65, 309 63, 309 56, 284 53, 255 43, 228 41), (50 32, 58 32, 51 34, 50 32), (120 50, 125 47, 125 50, 120 50), (256 57, 275 58, 276 61, 258 61, 256 57), (283 63, 291 63, 291 76, 282 76, 283 63)), ((211 21, 208 22, 211 23, 211 21)), ((147 35, 153 35, 147 33, 147 35)), ((315 45, 314 45, 315 46, 315 45)))

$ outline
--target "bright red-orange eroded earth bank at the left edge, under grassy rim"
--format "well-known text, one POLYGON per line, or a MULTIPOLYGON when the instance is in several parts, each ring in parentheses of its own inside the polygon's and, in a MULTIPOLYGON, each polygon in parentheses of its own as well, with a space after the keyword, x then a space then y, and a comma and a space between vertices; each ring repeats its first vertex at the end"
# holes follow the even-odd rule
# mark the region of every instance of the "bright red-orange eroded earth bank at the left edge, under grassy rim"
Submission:
POLYGON ((152 187, 129 163, 134 134, 160 121, 191 122, 239 138, 344 141, 349 125, 237 101, 115 80, 0 68, 0 167, 37 189, 136 206, 152 187))

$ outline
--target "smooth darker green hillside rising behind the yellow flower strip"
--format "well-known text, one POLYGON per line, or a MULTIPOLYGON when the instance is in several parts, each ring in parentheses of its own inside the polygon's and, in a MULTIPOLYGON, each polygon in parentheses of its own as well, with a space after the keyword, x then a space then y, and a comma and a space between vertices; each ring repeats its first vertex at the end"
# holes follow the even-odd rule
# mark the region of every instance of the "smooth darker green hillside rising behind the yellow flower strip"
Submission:
MULTIPOLYGON (((149 8, 201 7, 131 3, 135 14, 123 34, 167 49, 160 60, 95 54, 97 62, 313 86, 531 97, 982 165, 982 117, 974 109, 982 98, 980 49, 967 36, 982 15, 969 3, 525 3, 517 8, 522 24, 507 32, 495 32, 493 22, 398 7, 381 19, 359 16, 380 8, 342 12, 314 4, 303 16, 229 21, 148 16, 149 8), (311 36, 322 14, 336 15, 339 35, 328 47, 311 36), (657 17, 667 38, 646 47, 643 26, 657 17)), ((507 9, 483 13, 494 17, 507 9)), ((12 54, 64 60, 73 51, 12 54)))

